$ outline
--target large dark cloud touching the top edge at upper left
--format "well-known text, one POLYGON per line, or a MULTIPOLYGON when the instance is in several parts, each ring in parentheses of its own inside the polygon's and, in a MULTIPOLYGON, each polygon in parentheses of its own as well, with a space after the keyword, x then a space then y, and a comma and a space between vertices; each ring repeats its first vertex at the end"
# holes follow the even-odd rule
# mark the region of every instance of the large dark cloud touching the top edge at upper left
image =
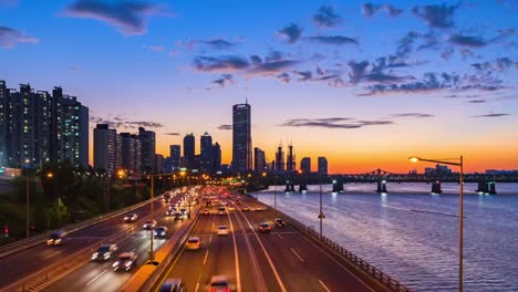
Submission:
POLYGON ((94 19, 115 27, 125 35, 146 32, 147 18, 170 15, 167 7, 139 1, 104 2, 100 0, 76 0, 62 13, 65 17, 94 19))

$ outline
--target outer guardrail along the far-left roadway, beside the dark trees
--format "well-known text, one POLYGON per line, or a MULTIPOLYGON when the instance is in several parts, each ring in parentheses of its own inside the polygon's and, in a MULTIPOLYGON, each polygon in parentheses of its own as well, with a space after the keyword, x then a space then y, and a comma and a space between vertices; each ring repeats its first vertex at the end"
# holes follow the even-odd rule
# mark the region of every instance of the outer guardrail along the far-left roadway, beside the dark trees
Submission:
MULTIPOLYGON (((153 200, 154 201, 159 200, 159 199, 162 199, 162 196, 163 195, 156 196, 155 198, 153 198, 153 200)), ((113 212, 110 212, 110 213, 106 213, 106 215, 101 215, 101 216, 87 219, 85 221, 81 221, 79 223, 65 226, 65 227, 60 228, 60 229, 51 230, 51 231, 48 231, 45 233, 41 233, 41 234, 34 236, 34 237, 30 237, 30 238, 27 238, 27 239, 22 239, 22 240, 6 244, 3 247, 0 247, 0 259, 7 257, 9 254, 20 252, 22 250, 30 249, 30 248, 32 248, 34 246, 44 243, 49 239, 49 237, 55 231, 64 230, 65 232, 71 233, 71 232, 81 230, 83 228, 87 228, 87 227, 101 223, 101 222, 103 222, 105 220, 108 220, 108 219, 112 219, 114 217, 121 216, 121 215, 123 215, 125 212, 128 212, 128 211, 132 211, 134 209, 138 209, 138 208, 141 208, 143 206, 146 206, 152 200, 148 199, 148 200, 142 201, 139 204, 132 205, 130 207, 126 207, 126 208, 123 208, 123 209, 120 209, 120 210, 116 210, 116 211, 113 211, 113 212)))

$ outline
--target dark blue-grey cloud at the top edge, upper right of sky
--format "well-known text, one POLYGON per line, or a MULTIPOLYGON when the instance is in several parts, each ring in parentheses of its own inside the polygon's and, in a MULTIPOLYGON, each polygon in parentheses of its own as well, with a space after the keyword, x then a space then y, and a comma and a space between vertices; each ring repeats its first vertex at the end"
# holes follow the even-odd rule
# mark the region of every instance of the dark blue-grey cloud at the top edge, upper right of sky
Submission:
POLYGON ((455 25, 453 20, 455 11, 460 4, 448 6, 416 6, 412 8, 412 13, 424 20, 428 27, 437 29, 449 29, 455 25))

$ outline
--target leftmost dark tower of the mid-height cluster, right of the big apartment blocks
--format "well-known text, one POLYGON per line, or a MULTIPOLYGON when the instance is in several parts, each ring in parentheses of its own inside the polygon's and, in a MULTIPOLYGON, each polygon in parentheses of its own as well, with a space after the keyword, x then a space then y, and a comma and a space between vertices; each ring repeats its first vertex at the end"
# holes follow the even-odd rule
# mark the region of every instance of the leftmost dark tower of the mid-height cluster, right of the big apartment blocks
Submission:
POLYGON ((94 128, 94 169, 115 174, 117 165, 117 132, 107 124, 94 128))

